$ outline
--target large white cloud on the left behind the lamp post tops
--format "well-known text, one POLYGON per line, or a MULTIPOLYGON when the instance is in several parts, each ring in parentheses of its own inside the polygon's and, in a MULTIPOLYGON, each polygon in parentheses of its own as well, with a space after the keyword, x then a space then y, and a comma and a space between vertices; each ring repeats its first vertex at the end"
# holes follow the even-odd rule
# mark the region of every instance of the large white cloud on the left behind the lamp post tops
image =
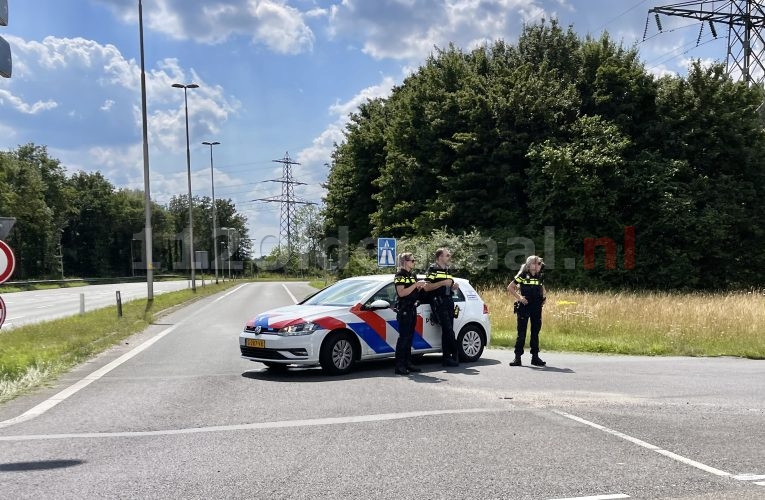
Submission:
MULTIPOLYGON (((49 36, 38 42, 14 37, 13 51, 19 71, 5 83, 7 90, 0 89, 0 106, 30 115, 48 111, 48 120, 30 123, 35 135, 77 127, 87 131, 79 138, 93 144, 140 141, 140 67, 135 60, 126 59, 113 45, 83 38, 49 36), (18 97, 17 88, 24 89, 30 103, 18 97)), ((188 91, 189 126, 199 134, 216 133, 241 107, 220 85, 185 70, 176 59, 159 61, 146 74, 154 148, 185 148, 183 95, 171 87, 175 82, 200 85, 188 91)))

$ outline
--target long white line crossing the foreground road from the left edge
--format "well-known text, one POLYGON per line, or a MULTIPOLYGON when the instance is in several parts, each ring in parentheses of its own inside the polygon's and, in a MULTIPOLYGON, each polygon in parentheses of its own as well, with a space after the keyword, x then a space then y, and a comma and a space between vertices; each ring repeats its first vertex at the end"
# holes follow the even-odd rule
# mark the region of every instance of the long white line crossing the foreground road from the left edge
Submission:
POLYGON ((253 424, 216 425, 211 427, 192 427, 188 429, 167 429, 162 431, 136 432, 83 432, 75 434, 30 434, 25 436, 0 436, 0 441, 44 441, 52 439, 87 439, 87 438, 122 438, 146 436, 175 436, 182 434, 200 434, 210 432, 252 431, 262 429, 285 429, 290 427, 315 427, 322 425, 360 424, 383 422, 405 418, 422 418, 440 415, 465 415, 475 413, 497 413, 509 411, 507 408, 468 408, 458 410, 412 411, 406 413, 382 413, 376 415, 355 415, 348 417, 314 418, 306 420, 282 420, 275 422, 257 422, 253 424))

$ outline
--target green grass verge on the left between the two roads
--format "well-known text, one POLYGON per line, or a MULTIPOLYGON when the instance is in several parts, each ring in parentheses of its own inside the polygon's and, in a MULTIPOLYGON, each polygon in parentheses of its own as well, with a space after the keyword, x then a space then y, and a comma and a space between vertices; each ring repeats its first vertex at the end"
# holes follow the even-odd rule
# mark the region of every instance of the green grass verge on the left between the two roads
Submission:
POLYGON ((213 295, 242 281, 154 296, 122 304, 122 318, 111 306, 82 316, 0 330, 0 402, 8 401, 69 370, 148 327, 170 307, 213 295))

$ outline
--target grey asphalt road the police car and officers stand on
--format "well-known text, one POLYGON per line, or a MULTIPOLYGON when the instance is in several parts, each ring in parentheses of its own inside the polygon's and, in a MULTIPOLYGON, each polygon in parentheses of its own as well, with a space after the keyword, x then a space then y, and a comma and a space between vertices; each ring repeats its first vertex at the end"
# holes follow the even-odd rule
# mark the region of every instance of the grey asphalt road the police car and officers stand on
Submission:
POLYGON ((0 405, 0 496, 765 498, 764 362, 492 349, 411 377, 278 374, 237 336, 285 287, 309 291, 235 287, 0 405))

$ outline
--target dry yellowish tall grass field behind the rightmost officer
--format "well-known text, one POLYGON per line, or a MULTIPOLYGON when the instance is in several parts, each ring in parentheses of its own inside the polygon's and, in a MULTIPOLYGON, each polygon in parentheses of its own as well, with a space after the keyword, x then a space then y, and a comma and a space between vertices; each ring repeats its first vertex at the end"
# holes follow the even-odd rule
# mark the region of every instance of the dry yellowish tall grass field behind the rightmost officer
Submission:
MULTIPOLYGON (((483 290, 492 344, 512 346, 513 301, 483 290)), ((550 292, 543 350, 765 359, 765 294, 550 292)))

